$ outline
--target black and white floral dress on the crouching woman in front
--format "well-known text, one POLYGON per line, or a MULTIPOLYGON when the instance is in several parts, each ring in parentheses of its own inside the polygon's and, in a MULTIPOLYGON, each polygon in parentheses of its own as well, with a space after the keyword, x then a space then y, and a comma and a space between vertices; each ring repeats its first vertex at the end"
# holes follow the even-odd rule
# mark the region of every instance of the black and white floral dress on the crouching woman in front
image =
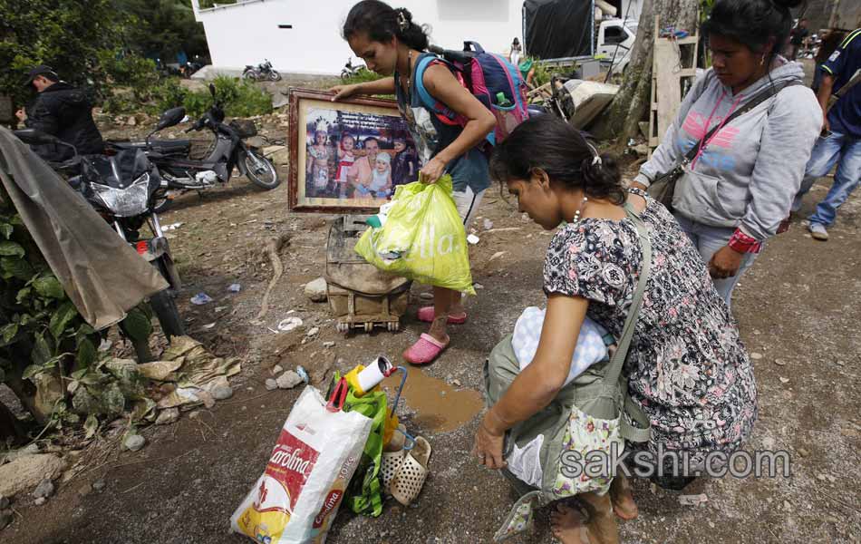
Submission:
MULTIPOLYGON (((659 444, 686 451, 698 470, 706 454, 729 455, 750 434, 756 383, 699 253, 667 209, 646 200, 641 217, 652 241, 652 273, 624 372, 631 397, 652 421, 644 447, 653 454, 659 444)), ((551 240, 545 291, 588 299, 586 315, 618 338, 642 258, 630 219, 581 219, 551 240)))

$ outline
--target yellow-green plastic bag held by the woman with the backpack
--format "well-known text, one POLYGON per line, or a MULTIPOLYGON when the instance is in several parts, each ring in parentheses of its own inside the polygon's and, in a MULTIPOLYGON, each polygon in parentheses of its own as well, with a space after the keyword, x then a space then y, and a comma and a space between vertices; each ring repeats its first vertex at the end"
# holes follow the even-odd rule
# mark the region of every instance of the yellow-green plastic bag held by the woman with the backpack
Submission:
POLYGON ((368 228, 355 251, 374 267, 423 284, 475 295, 469 248, 451 176, 397 187, 382 228, 368 228))

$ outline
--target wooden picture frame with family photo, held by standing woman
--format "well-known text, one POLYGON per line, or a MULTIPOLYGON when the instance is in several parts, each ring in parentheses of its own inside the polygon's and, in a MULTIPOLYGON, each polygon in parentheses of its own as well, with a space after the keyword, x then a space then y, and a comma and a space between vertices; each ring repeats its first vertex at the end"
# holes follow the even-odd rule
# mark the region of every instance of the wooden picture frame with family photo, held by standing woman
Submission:
POLYGON ((289 209, 375 213, 421 166, 397 102, 291 89, 289 209))

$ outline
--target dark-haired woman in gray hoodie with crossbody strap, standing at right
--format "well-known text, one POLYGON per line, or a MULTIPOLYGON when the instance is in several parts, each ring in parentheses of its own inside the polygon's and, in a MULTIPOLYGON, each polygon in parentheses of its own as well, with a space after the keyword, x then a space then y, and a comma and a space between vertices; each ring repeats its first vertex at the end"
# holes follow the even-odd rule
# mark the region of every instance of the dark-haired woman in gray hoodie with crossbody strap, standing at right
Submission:
POLYGON ((741 274, 789 215, 822 125, 816 96, 800 84, 801 64, 778 53, 792 25, 789 8, 799 4, 718 0, 701 28, 712 67, 634 180, 647 188, 719 127, 684 169, 672 208, 728 306, 741 274), (762 92, 775 93, 727 121, 762 92))

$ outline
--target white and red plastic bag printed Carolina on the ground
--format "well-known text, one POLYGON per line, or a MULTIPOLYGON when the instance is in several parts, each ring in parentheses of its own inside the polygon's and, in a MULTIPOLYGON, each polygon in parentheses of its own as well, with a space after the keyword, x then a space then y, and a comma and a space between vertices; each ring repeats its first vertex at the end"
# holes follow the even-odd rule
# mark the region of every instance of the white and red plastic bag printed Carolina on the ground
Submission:
POLYGON ((230 518, 232 529, 262 544, 323 544, 371 423, 361 413, 327 405, 314 387, 305 387, 266 471, 230 518))

